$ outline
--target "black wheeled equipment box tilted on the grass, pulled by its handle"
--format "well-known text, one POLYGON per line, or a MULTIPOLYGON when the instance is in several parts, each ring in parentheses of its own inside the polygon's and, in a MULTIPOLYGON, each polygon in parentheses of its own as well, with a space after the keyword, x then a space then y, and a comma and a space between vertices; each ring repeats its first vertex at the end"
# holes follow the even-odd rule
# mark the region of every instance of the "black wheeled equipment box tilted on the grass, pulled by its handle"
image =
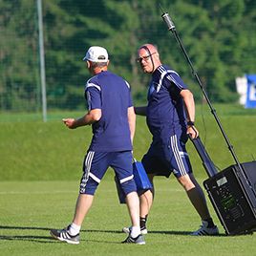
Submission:
POLYGON ((227 235, 256 230, 256 161, 231 165, 203 185, 227 235))

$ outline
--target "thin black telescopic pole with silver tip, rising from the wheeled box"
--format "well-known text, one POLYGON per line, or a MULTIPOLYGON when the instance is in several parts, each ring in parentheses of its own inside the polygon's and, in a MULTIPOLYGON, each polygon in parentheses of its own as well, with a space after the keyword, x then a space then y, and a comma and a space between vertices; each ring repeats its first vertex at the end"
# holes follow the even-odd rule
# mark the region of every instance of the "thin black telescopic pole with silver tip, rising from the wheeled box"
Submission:
MULTIPOLYGON (((161 11, 162 11, 162 10, 161 10, 161 11)), ((232 157, 233 157, 233 159, 235 160, 236 164, 239 166, 240 170, 243 170, 243 169, 242 169, 242 165, 241 165, 241 163, 239 162, 239 160, 238 160, 238 158, 237 158, 237 156, 236 156, 236 154, 235 154, 235 151, 234 151, 234 149, 233 149, 233 146, 232 146, 232 144, 230 143, 229 139, 227 138, 227 136, 226 136, 226 134, 225 134, 225 132, 224 132, 223 125, 222 125, 222 123, 221 123, 219 117, 217 116, 216 110, 213 108, 213 106, 212 106, 212 104, 211 104, 211 102, 210 102, 210 100, 209 100, 209 98, 208 98, 208 96, 207 96, 207 94, 206 94, 206 92, 205 92, 205 90, 204 90, 204 88, 203 88, 203 84, 202 84, 202 82, 201 82, 201 80, 200 80, 200 77, 199 77, 199 75, 196 73, 196 71, 195 71, 195 69, 194 69, 194 67, 193 67, 192 62, 191 62, 191 60, 190 60, 188 54, 186 53, 186 51, 185 51, 185 49, 184 49, 184 47, 183 47, 183 44, 182 44, 181 39, 180 39, 180 37, 179 37, 179 34, 176 32, 176 28, 175 28, 175 25, 174 25, 173 21, 171 20, 171 18, 170 18, 170 16, 169 16, 168 12, 163 12, 163 11, 162 11, 161 17, 162 17, 163 21, 166 23, 166 25, 167 25, 167 27, 168 27, 168 30, 171 31, 171 32, 173 32, 173 34, 174 34, 176 40, 177 40, 178 43, 180 44, 181 50, 182 50, 182 52, 184 53, 184 56, 185 56, 185 58, 186 58, 186 60, 187 60, 187 62, 188 62, 188 64, 189 64, 189 66, 190 66, 190 68, 191 68, 192 74, 195 75, 195 77, 196 77, 196 79, 197 79, 197 81, 198 81, 198 83, 199 83, 199 85, 200 85, 200 87, 201 87, 201 90, 202 90, 202 92, 203 92, 203 96, 205 97, 205 99, 206 99, 206 101, 207 101, 207 103, 208 103, 208 105, 209 105, 209 107, 210 107, 211 113, 212 113, 213 116, 215 117, 215 119, 216 119, 216 121, 217 121, 217 123, 218 123, 218 126, 219 126, 219 128, 221 129, 221 132, 222 132, 222 134, 223 134, 223 136, 224 136, 224 140, 225 140, 225 142, 226 142, 226 144, 227 144, 227 147, 228 147, 229 151, 231 152, 232 157)), ((243 172, 243 173, 244 173, 244 172, 243 172)))

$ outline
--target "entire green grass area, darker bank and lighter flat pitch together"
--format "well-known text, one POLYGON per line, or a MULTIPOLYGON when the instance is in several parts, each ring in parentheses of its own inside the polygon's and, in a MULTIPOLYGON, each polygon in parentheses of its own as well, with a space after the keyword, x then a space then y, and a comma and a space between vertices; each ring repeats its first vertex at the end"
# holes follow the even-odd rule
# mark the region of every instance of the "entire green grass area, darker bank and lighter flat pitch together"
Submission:
MULTIPOLYGON (((240 106, 216 107, 224 130, 240 161, 256 159, 256 110, 240 106)), ((43 123, 37 115, 0 114, 0 255, 256 255, 256 235, 191 237, 200 220, 178 182, 158 178, 156 199, 149 217, 147 245, 121 245, 129 224, 120 205, 109 170, 96 192, 85 220, 80 245, 54 241, 50 228, 62 228, 73 218, 83 156, 91 140, 91 127, 67 129, 62 117, 82 113, 50 113, 43 123)), ((197 109, 197 127, 212 160, 224 169, 234 163, 224 138, 207 106, 197 109)), ((140 160, 150 143, 144 118, 138 117, 134 155, 140 160)), ((187 143, 195 176, 207 175, 187 143)))

